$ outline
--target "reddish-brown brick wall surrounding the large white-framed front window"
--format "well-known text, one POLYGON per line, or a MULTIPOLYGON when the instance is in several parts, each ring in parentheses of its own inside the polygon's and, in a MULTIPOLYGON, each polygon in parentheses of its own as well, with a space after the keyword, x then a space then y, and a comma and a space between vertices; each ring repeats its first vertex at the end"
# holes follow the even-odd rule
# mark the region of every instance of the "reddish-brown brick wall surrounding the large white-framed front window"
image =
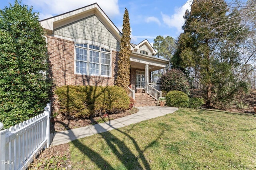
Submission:
POLYGON ((68 41, 52 36, 48 38, 48 51, 52 78, 56 86, 64 85, 114 85, 117 77, 118 52, 112 51, 112 76, 87 76, 74 74, 75 46, 73 41, 68 41))

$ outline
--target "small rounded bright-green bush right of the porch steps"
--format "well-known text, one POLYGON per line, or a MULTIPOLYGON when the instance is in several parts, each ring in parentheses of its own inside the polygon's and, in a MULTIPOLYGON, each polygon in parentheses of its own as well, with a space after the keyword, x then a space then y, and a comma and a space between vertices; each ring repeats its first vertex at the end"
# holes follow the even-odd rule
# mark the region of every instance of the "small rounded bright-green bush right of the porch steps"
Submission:
POLYGON ((166 105, 171 107, 188 107, 189 98, 184 92, 173 90, 166 94, 166 105))

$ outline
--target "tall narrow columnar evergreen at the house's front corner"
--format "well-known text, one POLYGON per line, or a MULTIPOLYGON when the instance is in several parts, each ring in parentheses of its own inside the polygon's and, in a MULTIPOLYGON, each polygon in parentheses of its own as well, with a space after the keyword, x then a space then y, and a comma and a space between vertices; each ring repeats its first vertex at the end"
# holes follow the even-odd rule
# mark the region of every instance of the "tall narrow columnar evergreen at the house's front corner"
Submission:
POLYGON ((124 20, 123 20, 123 28, 122 28, 122 38, 120 44, 120 52, 119 52, 119 61, 118 61, 118 72, 116 78, 116 86, 127 88, 130 84, 130 21, 129 21, 129 13, 125 8, 124 11, 124 20))

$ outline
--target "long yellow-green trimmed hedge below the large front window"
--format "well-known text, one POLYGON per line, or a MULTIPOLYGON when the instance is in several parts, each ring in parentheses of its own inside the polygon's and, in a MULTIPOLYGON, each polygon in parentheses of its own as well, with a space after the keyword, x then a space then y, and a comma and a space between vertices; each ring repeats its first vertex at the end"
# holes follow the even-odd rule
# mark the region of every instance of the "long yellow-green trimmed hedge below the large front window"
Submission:
POLYGON ((130 98, 117 86, 62 86, 55 90, 64 118, 82 119, 129 108, 130 98))

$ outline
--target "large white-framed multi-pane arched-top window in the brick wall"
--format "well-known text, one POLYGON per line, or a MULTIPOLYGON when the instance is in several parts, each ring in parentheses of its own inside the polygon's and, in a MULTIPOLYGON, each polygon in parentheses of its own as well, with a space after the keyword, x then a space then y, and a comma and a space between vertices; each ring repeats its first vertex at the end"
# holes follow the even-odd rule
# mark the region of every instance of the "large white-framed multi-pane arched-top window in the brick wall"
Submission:
POLYGON ((111 76, 110 50, 98 45, 76 43, 76 74, 111 76))

